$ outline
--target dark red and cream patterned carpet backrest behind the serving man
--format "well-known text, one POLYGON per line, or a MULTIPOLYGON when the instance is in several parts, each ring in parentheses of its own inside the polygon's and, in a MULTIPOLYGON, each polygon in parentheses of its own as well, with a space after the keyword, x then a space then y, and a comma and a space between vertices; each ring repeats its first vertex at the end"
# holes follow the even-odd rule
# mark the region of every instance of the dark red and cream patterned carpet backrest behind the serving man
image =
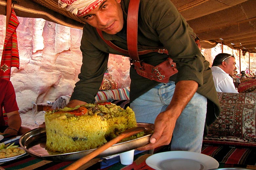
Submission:
POLYGON ((256 93, 218 92, 218 96, 222 112, 204 142, 256 147, 256 93))

